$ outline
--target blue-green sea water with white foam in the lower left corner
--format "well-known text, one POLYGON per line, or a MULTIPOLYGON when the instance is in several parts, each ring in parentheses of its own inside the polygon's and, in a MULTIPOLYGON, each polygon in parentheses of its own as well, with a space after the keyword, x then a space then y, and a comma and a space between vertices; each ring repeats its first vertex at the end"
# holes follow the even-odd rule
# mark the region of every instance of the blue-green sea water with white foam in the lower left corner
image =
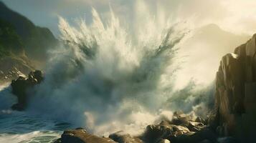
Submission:
POLYGON ((46 143, 54 142, 63 130, 72 124, 30 112, 16 112, 10 109, 16 97, 7 85, 0 87, 0 142, 1 143, 46 143))

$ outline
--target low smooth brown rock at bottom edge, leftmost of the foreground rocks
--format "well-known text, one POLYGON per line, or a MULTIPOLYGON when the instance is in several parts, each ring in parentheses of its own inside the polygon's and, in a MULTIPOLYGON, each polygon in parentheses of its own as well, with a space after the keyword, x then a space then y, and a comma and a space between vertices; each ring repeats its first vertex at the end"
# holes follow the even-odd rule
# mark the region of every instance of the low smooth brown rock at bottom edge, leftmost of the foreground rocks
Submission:
POLYGON ((63 132, 62 137, 54 143, 115 143, 112 139, 97 137, 85 129, 70 129, 63 132))

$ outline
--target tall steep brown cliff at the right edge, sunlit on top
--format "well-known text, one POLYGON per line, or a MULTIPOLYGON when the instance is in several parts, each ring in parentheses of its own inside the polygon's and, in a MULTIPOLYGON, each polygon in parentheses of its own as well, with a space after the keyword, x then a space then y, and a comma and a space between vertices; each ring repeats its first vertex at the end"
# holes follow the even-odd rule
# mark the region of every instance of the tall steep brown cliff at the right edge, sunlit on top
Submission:
POLYGON ((256 142, 256 34, 234 54, 223 56, 217 71, 215 127, 222 136, 256 142))

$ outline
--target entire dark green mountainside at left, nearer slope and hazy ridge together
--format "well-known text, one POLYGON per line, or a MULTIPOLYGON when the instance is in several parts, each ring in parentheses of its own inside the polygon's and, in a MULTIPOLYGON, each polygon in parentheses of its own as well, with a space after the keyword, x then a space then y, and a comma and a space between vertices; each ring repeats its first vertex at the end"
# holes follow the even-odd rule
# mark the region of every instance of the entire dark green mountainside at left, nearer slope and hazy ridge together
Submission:
POLYGON ((44 64, 58 43, 49 29, 35 26, 0 1, 0 83, 44 64))

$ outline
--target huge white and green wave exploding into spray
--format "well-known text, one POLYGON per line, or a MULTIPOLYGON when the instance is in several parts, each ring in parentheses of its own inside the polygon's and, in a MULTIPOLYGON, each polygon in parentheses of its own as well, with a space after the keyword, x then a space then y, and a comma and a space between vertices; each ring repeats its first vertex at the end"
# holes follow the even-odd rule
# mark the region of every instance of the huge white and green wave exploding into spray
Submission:
POLYGON ((92 14, 92 24, 77 21, 77 26, 60 18, 64 44, 52 51, 29 112, 95 134, 120 129, 134 134, 160 118, 170 119, 163 103, 171 96, 178 68, 173 61, 187 31, 150 14, 133 30, 120 24, 113 11, 108 22, 95 9, 92 14))

